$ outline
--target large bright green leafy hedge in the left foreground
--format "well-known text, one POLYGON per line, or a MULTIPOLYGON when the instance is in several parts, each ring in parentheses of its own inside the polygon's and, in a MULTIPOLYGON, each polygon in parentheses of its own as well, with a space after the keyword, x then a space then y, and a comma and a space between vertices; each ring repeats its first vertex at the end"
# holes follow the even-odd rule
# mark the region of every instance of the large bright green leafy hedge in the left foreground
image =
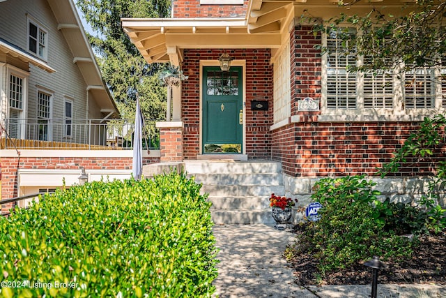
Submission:
POLYGON ((200 188, 184 174, 95 181, 17 208, 0 219, 3 280, 49 287, 0 296, 211 297, 215 239, 200 188))

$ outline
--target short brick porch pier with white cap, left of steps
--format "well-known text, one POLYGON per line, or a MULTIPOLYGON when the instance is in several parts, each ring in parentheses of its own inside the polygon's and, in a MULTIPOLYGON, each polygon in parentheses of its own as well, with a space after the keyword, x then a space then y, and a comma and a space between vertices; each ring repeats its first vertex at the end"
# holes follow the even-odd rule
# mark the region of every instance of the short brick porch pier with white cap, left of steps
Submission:
POLYGON ((160 161, 183 161, 183 122, 157 122, 160 128, 160 161))

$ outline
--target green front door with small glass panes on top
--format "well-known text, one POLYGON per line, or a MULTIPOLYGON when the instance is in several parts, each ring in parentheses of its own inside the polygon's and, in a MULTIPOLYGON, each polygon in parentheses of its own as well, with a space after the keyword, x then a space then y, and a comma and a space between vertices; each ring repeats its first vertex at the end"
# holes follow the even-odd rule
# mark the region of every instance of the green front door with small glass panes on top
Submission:
POLYGON ((203 154, 242 153, 242 68, 203 68, 203 154))

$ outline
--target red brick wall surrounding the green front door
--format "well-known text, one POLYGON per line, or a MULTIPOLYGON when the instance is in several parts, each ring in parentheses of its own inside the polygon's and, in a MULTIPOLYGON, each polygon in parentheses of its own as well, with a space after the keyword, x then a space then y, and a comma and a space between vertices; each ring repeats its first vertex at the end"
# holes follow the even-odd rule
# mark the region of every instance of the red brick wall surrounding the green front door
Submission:
MULTIPOLYGON (((184 158, 199 154, 200 60, 217 60, 223 50, 185 50, 182 84, 184 158)), ((226 50, 233 59, 246 61, 246 153, 249 159, 270 159, 272 125, 272 66, 270 50, 226 50), (268 100, 268 111, 252 111, 252 100, 268 100)))

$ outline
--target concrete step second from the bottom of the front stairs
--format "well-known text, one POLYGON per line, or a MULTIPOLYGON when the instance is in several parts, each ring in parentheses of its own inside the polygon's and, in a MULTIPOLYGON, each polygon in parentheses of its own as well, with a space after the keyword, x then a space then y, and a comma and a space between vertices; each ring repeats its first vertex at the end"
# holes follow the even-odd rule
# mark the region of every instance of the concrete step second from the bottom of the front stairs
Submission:
POLYGON ((212 202, 212 211, 215 210, 261 210, 270 207, 268 197, 209 197, 208 201, 212 202))

